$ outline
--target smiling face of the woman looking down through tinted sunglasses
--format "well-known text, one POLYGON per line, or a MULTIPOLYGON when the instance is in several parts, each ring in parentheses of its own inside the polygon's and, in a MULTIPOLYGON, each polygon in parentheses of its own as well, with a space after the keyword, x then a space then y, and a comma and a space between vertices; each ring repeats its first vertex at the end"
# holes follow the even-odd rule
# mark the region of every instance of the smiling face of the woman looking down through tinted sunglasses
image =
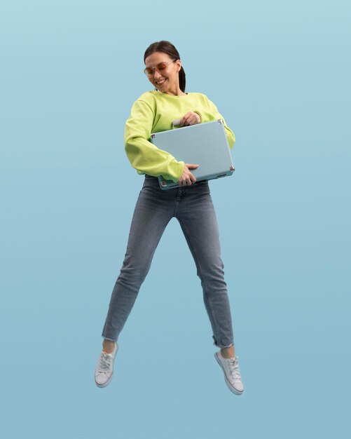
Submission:
POLYGON ((148 75, 149 81, 160 92, 168 95, 184 95, 179 88, 179 70, 181 68, 180 60, 172 61, 167 53, 154 52, 145 60, 145 67, 156 67, 161 62, 165 62, 167 66, 160 72, 153 69, 153 73, 148 75))

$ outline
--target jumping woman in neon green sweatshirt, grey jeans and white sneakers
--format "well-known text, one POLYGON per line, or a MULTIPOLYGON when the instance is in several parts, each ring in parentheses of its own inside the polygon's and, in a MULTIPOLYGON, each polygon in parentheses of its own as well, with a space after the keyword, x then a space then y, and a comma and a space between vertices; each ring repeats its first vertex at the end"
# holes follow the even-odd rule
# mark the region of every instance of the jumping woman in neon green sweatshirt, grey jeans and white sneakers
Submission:
MULTIPOLYGON (((238 357, 235 357, 230 306, 223 277, 219 231, 207 181, 197 182, 191 170, 197 164, 177 161, 155 147, 151 133, 180 126, 223 119, 216 106, 201 93, 185 93, 185 72, 177 49, 169 41, 151 44, 144 54, 144 73, 155 90, 144 93, 133 104, 125 123, 125 151, 133 168, 145 174, 130 227, 127 251, 113 288, 102 337, 102 353, 95 369, 97 386, 109 384, 117 339, 127 320, 139 288, 151 266, 158 242, 172 217, 181 225, 201 280, 205 307, 212 325, 215 353, 230 391, 241 395, 238 357), (178 182, 179 187, 163 191, 158 175, 178 182)), ((226 126, 230 147, 235 137, 226 126)), ((214 153, 215 154, 215 153, 214 153)))

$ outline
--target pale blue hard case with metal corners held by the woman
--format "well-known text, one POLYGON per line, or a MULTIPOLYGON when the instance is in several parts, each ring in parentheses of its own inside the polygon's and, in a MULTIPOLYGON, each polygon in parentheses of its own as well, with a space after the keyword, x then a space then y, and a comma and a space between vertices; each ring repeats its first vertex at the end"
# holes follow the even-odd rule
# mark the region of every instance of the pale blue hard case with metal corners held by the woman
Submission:
MULTIPOLYGON (((191 169, 197 181, 226 177, 235 170, 221 119, 153 133, 150 141, 178 161, 198 164, 198 168, 191 169)), ((165 180, 162 175, 158 181, 161 189, 178 187, 178 183, 165 180)))

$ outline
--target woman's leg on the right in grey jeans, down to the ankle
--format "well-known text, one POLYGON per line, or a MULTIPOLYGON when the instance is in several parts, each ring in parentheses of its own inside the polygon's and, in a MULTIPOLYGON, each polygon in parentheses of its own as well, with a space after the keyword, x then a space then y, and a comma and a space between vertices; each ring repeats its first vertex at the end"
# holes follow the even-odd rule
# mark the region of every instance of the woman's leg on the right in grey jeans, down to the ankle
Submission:
POLYGON ((199 182, 186 189, 182 201, 176 216, 201 280, 214 344, 221 348, 223 356, 233 358, 233 327, 224 281, 219 229, 207 182, 199 182))

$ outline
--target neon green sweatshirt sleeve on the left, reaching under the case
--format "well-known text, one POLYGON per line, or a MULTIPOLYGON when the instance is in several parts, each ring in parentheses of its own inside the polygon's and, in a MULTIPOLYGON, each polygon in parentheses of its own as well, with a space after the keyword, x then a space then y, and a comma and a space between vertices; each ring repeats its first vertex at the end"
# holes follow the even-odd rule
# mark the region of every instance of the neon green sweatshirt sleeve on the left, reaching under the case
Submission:
POLYGON ((148 102, 137 100, 125 123, 125 152, 133 168, 139 173, 177 182, 184 169, 184 161, 177 161, 171 154, 149 142, 154 112, 148 102))

